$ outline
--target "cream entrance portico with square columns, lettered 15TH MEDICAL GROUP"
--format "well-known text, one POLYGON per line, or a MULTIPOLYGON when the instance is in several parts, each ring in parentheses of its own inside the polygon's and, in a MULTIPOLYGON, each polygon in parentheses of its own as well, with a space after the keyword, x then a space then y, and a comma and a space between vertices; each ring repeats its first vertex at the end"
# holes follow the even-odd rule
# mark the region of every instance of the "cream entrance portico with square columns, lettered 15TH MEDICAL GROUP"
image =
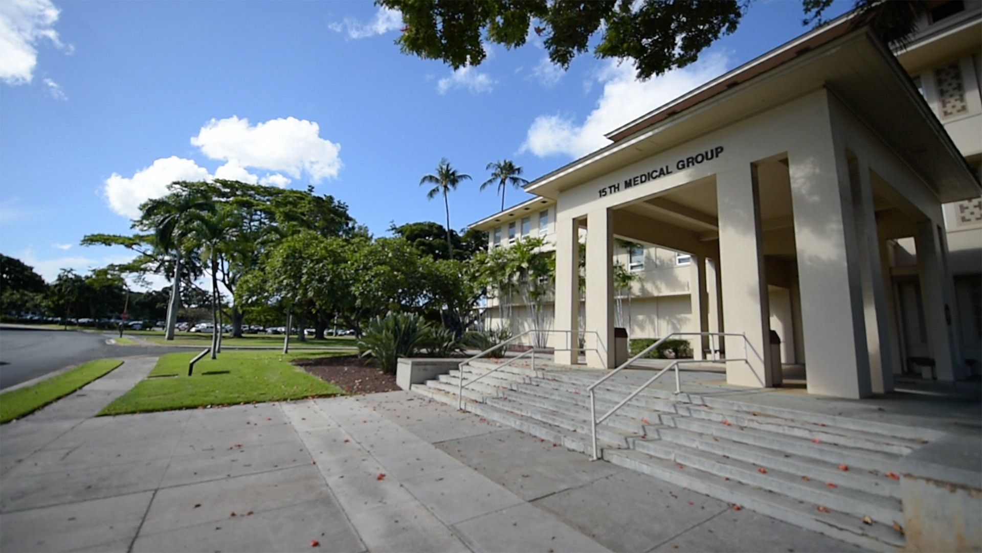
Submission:
POLYGON ((728 383, 773 384, 775 329, 783 360, 806 365, 809 393, 890 391, 904 352, 883 243, 906 235, 938 377, 960 376, 941 204, 977 196, 979 183, 889 50, 864 30, 822 36, 631 122, 526 187, 557 202, 555 327, 585 330, 587 366, 616 366, 617 236, 692 255, 692 320, 740 334, 723 348, 728 383))

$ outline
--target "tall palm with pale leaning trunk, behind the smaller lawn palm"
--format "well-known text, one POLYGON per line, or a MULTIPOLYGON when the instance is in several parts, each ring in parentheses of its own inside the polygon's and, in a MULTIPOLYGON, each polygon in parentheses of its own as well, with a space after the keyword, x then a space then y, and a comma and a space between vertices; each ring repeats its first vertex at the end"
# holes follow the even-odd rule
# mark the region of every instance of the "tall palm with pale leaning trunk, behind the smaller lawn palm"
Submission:
POLYGON ((136 226, 152 228, 154 244, 164 251, 174 252, 174 284, 171 287, 171 301, 167 305, 167 327, 164 334, 165 339, 173 340, 178 309, 181 306, 181 258, 185 237, 189 232, 189 214, 213 212, 215 205, 204 190, 189 182, 174 182, 168 188, 171 190, 170 194, 147 200, 140 206, 143 213, 136 226))

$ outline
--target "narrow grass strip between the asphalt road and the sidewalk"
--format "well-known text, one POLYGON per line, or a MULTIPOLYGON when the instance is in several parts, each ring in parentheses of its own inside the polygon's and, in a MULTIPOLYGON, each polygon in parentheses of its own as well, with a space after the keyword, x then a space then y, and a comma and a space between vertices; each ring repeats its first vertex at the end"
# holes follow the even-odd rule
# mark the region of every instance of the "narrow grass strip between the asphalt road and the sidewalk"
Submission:
POLYGON ((50 377, 32 386, 0 394, 0 424, 20 419, 44 407, 56 399, 81 388, 92 380, 104 376, 123 362, 119 359, 89 361, 71 371, 50 377))

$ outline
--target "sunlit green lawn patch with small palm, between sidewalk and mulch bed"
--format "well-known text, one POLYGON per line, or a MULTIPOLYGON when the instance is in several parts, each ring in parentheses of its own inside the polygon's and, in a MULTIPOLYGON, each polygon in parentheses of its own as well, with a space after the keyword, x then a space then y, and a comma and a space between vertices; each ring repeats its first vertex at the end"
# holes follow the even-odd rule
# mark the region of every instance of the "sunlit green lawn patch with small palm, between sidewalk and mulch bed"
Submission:
POLYGON ((106 406, 99 415, 345 393, 338 386, 312 377, 290 364, 292 359, 316 355, 310 352, 283 355, 278 351, 226 351, 215 360, 205 356, 194 365, 193 376, 188 377, 188 363, 196 354, 162 356, 146 379, 106 406))

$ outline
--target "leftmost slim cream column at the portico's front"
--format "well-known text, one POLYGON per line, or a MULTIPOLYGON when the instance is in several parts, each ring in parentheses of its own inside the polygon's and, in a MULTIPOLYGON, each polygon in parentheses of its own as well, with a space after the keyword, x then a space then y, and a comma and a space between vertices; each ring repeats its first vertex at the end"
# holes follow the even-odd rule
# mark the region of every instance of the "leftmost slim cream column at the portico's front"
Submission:
POLYGON ((575 220, 556 217, 556 363, 579 362, 579 226, 575 220))

